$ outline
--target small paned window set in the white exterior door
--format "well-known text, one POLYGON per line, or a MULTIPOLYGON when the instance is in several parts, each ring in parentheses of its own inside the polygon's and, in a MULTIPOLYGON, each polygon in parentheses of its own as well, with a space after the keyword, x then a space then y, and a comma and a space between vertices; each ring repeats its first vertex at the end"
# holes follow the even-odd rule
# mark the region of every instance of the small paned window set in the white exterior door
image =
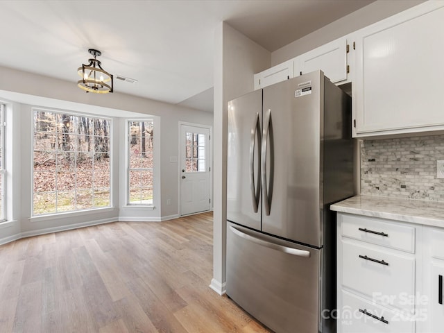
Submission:
POLYGON ((205 134, 187 132, 187 172, 205 172, 205 134))

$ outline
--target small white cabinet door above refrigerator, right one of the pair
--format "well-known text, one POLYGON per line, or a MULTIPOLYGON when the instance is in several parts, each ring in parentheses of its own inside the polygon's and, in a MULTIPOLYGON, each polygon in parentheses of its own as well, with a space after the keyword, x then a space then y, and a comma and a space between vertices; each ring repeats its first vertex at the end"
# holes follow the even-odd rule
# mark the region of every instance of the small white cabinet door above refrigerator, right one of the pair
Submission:
POLYGON ((302 74, 321 69, 332 83, 347 80, 347 40, 345 38, 320 46, 302 54, 299 58, 302 74))

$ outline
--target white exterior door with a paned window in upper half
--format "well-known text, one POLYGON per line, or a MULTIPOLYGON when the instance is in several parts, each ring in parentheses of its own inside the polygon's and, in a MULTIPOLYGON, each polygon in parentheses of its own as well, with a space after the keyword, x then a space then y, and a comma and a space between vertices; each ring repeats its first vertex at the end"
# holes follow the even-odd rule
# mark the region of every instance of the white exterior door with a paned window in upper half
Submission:
POLYGON ((180 214, 210 210, 210 130, 182 125, 180 132, 180 214))

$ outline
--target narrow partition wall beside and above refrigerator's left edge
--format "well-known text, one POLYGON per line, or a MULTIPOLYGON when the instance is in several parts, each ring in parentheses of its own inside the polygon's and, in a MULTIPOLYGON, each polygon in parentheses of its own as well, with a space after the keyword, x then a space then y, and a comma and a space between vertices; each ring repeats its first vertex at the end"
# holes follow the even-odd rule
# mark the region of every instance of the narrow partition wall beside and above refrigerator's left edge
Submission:
POLYGON ((210 287, 225 292, 227 103, 253 91, 253 74, 270 65, 270 52, 226 23, 215 31, 214 244, 210 287))

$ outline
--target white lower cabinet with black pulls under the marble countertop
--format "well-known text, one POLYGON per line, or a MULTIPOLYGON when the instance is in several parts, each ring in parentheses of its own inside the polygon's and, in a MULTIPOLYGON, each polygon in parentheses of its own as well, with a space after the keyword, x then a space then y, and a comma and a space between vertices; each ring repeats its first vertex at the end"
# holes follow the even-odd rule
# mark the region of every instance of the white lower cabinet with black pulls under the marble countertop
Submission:
POLYGON ((444 223, 337 221, 337 332, 443 333, 444 223))

